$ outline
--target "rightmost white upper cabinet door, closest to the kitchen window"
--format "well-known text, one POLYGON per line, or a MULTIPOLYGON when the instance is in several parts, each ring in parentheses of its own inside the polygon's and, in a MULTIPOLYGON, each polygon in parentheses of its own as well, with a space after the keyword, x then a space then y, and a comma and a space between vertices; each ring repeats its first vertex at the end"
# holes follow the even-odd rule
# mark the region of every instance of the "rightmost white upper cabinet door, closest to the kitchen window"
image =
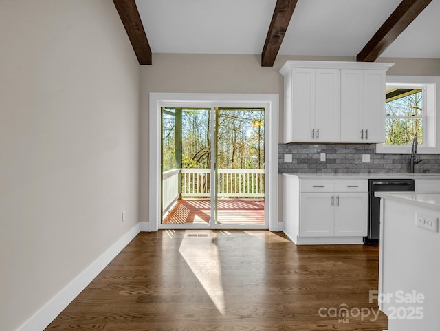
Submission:
POLYGON ((385 141, 385 72, 364 70, 365 142, 385 141))

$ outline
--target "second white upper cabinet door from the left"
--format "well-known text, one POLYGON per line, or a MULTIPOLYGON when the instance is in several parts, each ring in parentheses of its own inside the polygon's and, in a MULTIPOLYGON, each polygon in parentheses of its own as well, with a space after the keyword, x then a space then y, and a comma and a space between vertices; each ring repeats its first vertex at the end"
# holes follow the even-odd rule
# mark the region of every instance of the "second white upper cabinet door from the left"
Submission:
POLYGON ((340 140, 340 70, 316 69, 315 132, 316 142, 340 140))

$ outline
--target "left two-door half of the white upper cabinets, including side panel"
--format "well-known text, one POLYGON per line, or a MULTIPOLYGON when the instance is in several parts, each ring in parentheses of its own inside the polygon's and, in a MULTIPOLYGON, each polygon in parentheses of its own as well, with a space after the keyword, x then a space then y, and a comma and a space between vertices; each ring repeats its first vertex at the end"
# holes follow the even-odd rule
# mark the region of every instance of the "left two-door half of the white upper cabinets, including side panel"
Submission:
POLYGON ((340 71, 293 68, 285 76, 285 140, 333 142, 339 139, 340 71))

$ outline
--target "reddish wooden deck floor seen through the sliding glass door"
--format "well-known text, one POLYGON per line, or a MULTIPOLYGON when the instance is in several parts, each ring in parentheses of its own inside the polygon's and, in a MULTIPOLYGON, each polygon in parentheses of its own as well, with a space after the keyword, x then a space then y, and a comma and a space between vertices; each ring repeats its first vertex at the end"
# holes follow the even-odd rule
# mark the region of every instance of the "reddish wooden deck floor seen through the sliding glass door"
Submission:
MULTIPOLYGON (((210 199, 177 200, 164 224, 209 223, 210 199)), ((219 199, 218 224, 264 224, 264 199, 219 199)))

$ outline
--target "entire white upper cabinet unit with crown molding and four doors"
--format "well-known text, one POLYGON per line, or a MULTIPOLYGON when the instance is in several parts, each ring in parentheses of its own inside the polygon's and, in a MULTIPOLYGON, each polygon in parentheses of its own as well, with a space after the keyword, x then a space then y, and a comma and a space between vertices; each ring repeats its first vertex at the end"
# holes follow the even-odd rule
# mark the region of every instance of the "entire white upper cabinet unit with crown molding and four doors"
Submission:
POLYGON ((287 61, 284 142, 384 142, 393 63, 287 61))

